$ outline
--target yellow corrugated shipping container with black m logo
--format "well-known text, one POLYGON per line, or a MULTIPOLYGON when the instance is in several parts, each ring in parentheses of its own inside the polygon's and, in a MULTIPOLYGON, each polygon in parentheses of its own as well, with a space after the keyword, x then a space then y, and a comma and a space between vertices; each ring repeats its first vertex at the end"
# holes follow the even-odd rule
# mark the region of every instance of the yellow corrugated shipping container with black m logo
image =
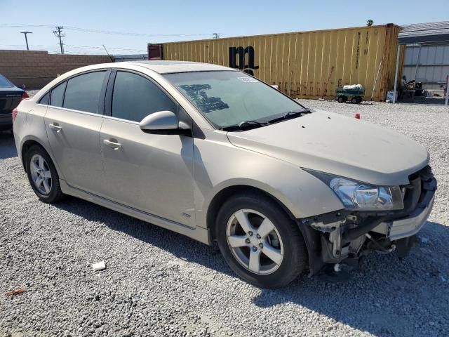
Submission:
POLYGON ((399 27, 393 24, 163 44, 164 60, 234 67, 293 97, 333 97, 340 84, 362 84, 374 100, 394 86, 399 27))

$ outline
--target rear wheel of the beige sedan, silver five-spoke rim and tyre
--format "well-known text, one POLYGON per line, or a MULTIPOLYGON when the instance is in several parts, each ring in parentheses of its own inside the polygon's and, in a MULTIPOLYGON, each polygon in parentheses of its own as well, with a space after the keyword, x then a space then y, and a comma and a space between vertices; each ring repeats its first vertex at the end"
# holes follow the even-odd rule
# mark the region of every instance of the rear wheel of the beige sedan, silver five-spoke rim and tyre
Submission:
POLYGON ((29 148, 25 154, 25 166, 29 184, 41 201, 52 204, 64 199, 58 172, 42 147, 33 145, 29 148))

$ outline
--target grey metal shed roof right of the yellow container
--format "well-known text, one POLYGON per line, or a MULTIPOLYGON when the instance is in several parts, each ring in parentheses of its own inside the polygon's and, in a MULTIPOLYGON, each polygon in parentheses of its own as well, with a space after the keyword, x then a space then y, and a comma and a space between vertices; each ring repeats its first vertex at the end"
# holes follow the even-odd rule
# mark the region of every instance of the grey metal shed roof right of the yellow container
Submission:
POLYGON ((403 26, 399 44, 449 43, 449 21, 414 23, 403 26))

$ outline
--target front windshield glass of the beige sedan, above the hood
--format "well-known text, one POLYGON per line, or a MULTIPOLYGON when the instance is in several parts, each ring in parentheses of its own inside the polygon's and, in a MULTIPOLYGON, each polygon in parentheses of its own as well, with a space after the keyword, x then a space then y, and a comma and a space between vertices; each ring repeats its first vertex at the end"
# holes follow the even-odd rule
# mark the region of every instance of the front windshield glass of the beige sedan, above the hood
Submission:
POLYGON ((243 72, 183 72, 166 74, 216 128, 245 121, 268 121, 304 110, 295 100, 243 72))

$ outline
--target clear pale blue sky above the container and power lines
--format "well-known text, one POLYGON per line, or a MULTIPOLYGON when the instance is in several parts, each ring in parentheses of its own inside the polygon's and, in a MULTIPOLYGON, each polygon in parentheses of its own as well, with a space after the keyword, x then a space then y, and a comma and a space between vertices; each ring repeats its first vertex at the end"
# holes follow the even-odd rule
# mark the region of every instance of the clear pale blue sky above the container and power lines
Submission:
POLYGON ((148 42, 208 39, 214 32, 232 37, 356 27, 365 25, 368 18, 375 25, 445 21, 449 20, 449 6, 447 0, 0 0, 0 18, 0 49, 24 49, 20 32, 28 30, 33 32, 30 49, 57 52, 58 41, 51 27, 6 25, 61 25, 67 27, 65 49, 69 53, 105 53, 105 44, 112 54, 127 54, 146 53, 148 42), (99 34, 68 27, 166 36, 99 34))

